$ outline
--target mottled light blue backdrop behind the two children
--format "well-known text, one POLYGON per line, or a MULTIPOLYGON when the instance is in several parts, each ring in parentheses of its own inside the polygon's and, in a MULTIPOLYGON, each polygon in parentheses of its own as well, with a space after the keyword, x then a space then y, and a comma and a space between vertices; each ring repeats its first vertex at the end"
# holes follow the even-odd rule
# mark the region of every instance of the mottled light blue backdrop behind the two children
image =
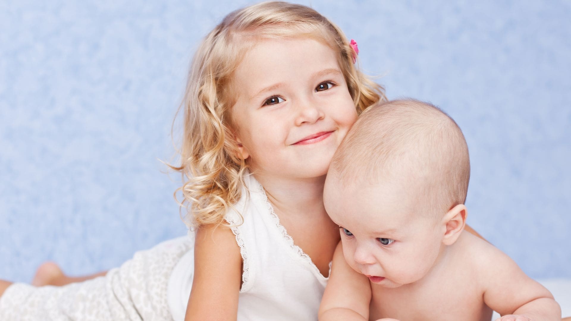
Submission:
MULTIPOLYGON (((247 3, 0 2, 0 278, 108 269, 184 235, 159 159, 199 39, 247 3)), ((571 278, 571 2, 303 3, 389 98, 456 119, 468 223, 529 275, 571 278)))

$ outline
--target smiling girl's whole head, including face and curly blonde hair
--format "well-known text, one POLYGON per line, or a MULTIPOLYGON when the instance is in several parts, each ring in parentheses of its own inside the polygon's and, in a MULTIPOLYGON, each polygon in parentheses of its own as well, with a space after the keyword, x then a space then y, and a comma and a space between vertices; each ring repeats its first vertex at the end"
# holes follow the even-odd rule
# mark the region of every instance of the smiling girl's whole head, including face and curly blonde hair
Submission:
POLYGON ((338 27, 286 2, 236 10, 204 38, 182 105, 179 169, 188 182, 180 190, 195 225, 222 222, 246 168, 324 177, 356 115, 385 100, 353 57, 338 27), (327 135, 319 138, 325 150, 313 148, 319 139, 297 144, 317 134, 327 135))

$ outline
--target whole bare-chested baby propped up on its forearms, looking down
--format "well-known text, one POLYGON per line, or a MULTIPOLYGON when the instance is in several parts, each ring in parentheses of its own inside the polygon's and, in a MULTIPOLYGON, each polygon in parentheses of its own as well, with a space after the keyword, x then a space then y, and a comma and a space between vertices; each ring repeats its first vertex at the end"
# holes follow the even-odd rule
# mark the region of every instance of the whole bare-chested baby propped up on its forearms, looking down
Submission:
POLYGON ((320 320, 561 320, 550 292, 466 231, 468 146, 435 106, 365 111, 331 162, 325 208, 341 243, 320 320))

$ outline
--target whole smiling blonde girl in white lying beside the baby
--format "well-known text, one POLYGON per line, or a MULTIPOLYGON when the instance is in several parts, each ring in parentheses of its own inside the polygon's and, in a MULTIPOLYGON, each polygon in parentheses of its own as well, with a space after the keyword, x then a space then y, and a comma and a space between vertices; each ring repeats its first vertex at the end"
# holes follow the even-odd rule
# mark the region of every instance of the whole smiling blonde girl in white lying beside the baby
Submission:
POLYGON ((190 237, 86 282, 2 282, 0 319, 316 320, 340 237, 325 174, 361 111, 385 100, 355 49, 306 6, 228 14, 196 52, 182 106, 190 237))

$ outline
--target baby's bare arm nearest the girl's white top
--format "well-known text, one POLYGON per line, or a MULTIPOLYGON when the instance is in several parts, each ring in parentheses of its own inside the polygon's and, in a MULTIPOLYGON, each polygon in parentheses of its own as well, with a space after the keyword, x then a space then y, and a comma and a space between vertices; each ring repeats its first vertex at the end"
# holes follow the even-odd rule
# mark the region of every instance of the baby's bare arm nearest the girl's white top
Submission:
POLYGON ((368 320, 370 303, 369 279, 345 262, 343 246, 339 242, 319 307, 319 320, 368 320))

